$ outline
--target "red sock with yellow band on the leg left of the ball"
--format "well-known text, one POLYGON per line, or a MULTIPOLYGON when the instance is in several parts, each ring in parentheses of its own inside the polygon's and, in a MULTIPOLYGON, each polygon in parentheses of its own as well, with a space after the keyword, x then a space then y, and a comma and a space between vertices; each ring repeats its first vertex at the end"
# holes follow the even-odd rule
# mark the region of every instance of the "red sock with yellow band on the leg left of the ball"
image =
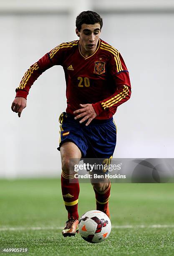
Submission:
POLYGON ((61 186, 68 219, 73 216, 75 220, 78 220, 78 195, 80 192, 78 179, 74 178, 74 174, 68 175, 62 172, 61 186))

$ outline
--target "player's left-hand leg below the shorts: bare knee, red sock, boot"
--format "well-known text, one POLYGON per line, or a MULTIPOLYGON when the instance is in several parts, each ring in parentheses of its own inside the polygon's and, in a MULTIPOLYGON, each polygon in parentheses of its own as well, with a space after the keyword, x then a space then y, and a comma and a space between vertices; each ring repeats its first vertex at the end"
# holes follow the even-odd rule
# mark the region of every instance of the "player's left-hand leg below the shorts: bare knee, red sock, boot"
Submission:
POLYGON ((68 211, 68 221, 62 231, 63 236, 75 236, 78 229, 78 196, 79 183, 74 177, 74 165, 81 159, 81 151, 75 143, 67 141, 61 145, 61 187, 66 210, 68 211))

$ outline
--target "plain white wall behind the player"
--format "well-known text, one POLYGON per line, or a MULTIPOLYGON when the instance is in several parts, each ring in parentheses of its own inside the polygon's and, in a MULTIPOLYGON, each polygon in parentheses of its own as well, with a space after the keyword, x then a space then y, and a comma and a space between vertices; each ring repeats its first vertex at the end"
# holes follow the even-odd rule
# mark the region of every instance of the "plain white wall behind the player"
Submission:
POLYGON ((114 157, 174 157, 173 1, 82 2, 0 1, 0 177, 60 174, 56 148, 58 117, 66 109, 63 69, 53 67, 39 77, 21 118, 10 107, 28 67, 58 44, 76 39, 75 18, 90 9, 100 12, 101 38, 119 49, 131 77, 132 97, 114 116, 114 157))

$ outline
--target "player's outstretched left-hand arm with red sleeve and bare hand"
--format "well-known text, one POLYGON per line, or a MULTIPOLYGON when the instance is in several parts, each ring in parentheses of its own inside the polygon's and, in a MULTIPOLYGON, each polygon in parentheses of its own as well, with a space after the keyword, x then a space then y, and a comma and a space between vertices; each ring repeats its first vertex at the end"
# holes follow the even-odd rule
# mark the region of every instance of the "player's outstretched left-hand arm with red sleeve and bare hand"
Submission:
POLYGON ((18 113, 19 117, 27 105, 27 96, 35 80, 50 67, 61 65, 62 59, 63 51, 61 45, 59 45, 45 54, 41 59, 35 62, 35 64, 31 65, 25 72, 19 87, 16 88, 16 97, 11 106, 12 111, 18 113))

